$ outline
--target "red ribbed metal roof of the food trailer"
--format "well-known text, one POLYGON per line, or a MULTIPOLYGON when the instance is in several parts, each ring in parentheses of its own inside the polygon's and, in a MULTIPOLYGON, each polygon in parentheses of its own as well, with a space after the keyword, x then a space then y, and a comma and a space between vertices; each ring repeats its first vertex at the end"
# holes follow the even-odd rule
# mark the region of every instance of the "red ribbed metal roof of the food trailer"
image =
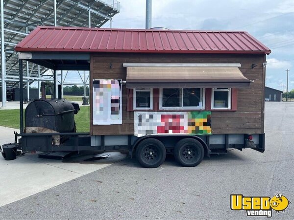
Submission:
POLYGON ((39 26, 16 51, 263 53, 270 49, 245 31, 105 29, 39 26))

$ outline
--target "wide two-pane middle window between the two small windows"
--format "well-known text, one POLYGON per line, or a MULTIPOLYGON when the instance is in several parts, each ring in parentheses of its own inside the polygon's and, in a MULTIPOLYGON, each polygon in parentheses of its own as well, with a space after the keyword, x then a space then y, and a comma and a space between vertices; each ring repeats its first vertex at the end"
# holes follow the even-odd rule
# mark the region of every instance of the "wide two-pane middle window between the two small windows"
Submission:
POLYGON ((159 93, 160 110, 204 109, 203 88, 161 88, 159 93))

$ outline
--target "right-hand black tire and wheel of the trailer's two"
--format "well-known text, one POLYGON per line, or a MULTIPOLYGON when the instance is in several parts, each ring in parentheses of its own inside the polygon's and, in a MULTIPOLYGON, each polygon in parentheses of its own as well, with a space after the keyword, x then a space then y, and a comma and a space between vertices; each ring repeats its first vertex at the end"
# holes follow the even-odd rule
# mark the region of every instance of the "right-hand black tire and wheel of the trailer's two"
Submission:
POLYGON ((175 160, 182 166, 195 167, 202 161, 204 149, 194 138, 184 138, 176 143, 173 154, 175 160))

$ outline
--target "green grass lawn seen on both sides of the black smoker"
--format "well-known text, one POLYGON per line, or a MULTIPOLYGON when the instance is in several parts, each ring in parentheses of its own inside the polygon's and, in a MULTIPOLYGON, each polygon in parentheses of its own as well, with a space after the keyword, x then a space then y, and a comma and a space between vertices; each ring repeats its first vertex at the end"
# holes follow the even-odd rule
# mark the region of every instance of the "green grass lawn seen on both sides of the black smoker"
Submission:
MULTIPOLYGON (((77 132, 90 131, 90 107, 80 107, 74 115, 77 132)), ((0 126, 20 129, 20 110, 0 110, 0 126)))

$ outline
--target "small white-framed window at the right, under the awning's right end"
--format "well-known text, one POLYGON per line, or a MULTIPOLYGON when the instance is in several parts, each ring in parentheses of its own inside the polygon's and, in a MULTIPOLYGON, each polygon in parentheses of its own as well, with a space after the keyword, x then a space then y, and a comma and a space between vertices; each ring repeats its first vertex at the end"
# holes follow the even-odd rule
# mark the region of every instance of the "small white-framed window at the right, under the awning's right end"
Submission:
POLYGON ((231 88, 212 88, 211 109, 231 109, 231 88))

